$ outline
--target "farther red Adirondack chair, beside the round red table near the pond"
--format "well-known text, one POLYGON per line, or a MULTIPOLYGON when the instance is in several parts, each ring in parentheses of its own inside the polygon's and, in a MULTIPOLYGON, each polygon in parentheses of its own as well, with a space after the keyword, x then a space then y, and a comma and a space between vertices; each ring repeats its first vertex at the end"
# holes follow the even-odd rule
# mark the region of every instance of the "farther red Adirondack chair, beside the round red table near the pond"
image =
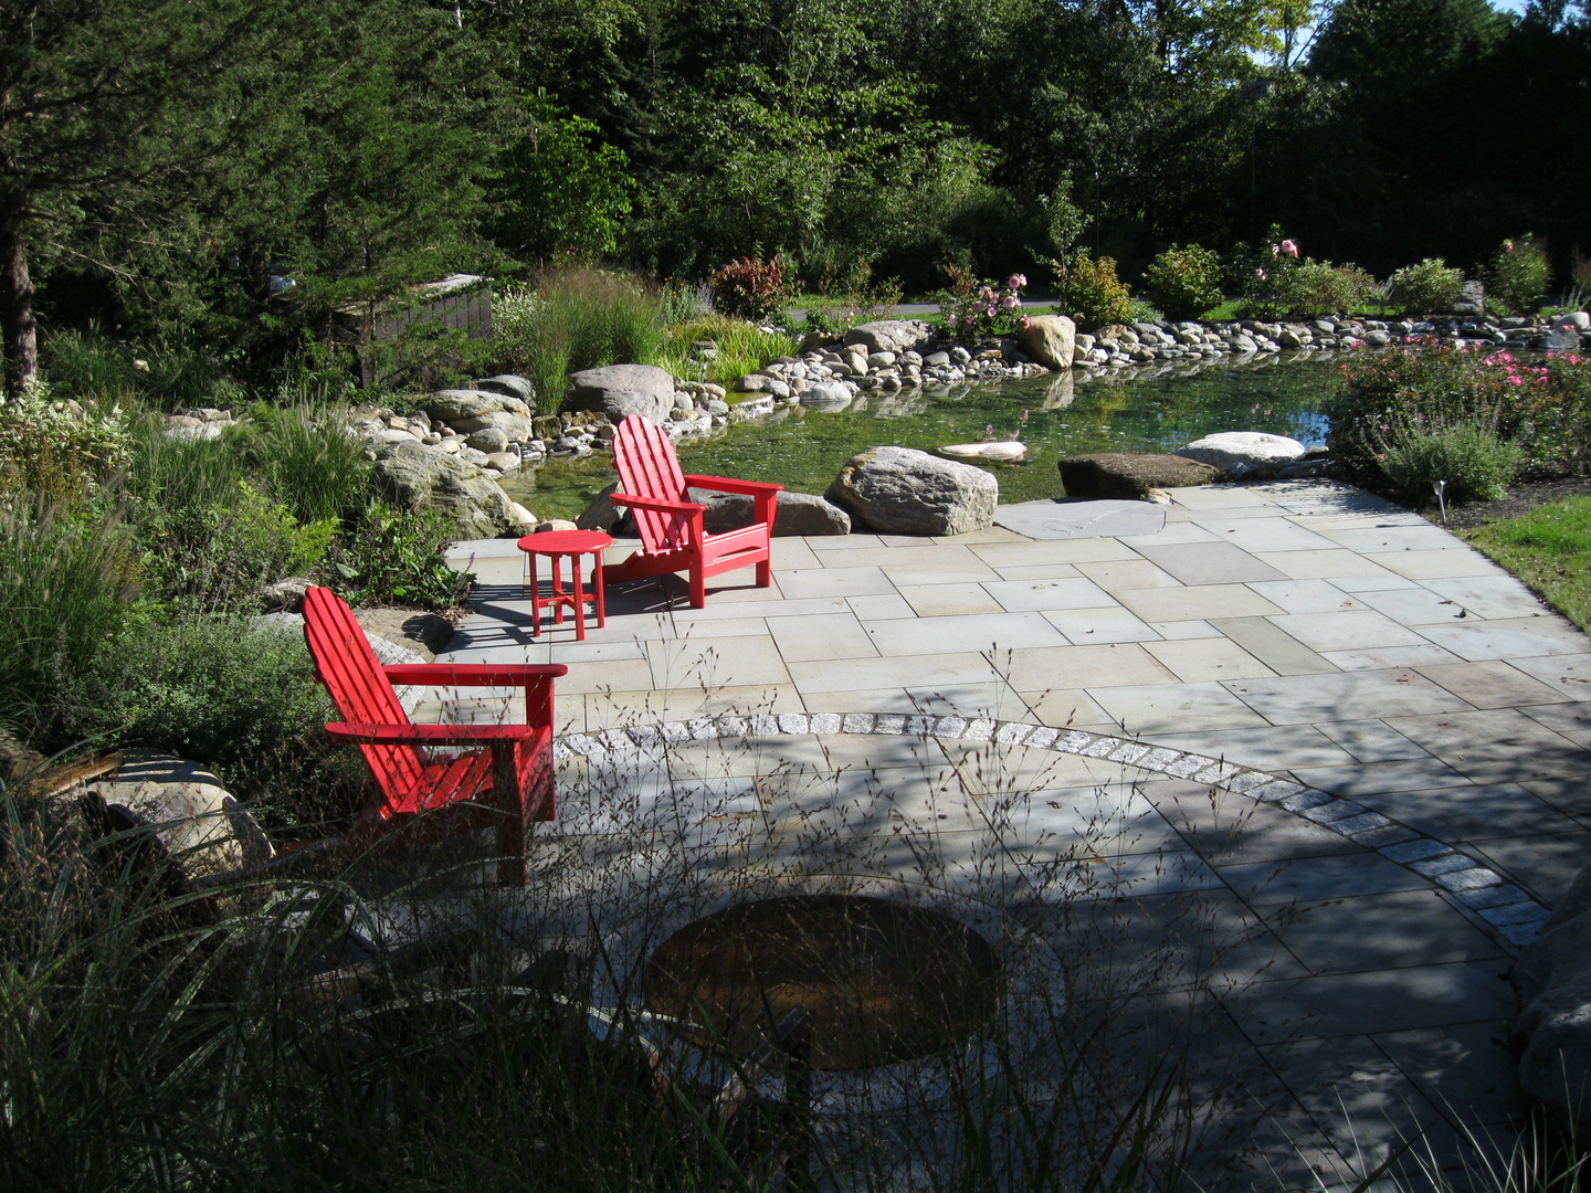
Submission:
POLYGON ((768 539, 773 538, 773 507, 784 485, 681 472, 668 436, 640 415, 630 415, 619 423, 619 433, 613 441, 613 458, 622 485, 622 492, 614 493, 613 501, 635 511, 641 550, 608 568, 609 584, 689 569, 690 604, 697 609, 706 604, 708 576, 754 563, 757 587, 767 589, 773 584, 768 539), (706 506, 690 501, 687 492, 690 487, 753 496, 756 520, 740 530, 708 534, 702 528, 706 506))

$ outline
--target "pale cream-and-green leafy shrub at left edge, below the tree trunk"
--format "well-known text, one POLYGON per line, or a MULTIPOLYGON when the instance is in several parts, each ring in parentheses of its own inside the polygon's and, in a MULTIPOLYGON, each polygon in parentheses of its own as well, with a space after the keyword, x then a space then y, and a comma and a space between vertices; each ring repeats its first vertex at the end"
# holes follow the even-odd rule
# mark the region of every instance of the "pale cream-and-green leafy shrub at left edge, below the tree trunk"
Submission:
POLYGON ((0 398, 0 495, 70 501, 124 469, 129 453, 127 420, 115 406, 84 409, 53 398, 45 382, 0 398))

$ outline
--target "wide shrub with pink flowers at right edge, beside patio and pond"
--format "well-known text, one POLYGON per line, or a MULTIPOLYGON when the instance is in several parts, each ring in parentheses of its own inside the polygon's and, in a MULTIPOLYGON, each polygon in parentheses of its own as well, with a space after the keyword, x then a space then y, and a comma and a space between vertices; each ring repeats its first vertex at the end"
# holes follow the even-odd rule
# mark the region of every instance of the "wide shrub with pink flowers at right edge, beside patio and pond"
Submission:
MULTIPOLYGON (((1435 340, 1386 352, 1356 350, 1327 404, 1333 453, 1381 466, 1387 447, 1427 433, 1473 426, 1516 444, 1535 472, 1591 468, 1591 361, 1551 353, 1524 363, 1435 340)), ((1451 480, 1451 477, 1448 477, 1451 480)))

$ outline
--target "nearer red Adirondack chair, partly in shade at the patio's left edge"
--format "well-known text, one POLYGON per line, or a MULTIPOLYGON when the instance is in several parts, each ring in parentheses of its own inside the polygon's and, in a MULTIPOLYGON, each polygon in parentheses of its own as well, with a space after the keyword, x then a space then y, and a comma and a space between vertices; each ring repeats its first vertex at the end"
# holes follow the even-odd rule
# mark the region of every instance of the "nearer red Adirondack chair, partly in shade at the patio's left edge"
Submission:
POLYGON ((498 880, 525 883, 525 829, 550 821, 552 665, 414 663, 383 666, 348 606, 329 589, 304 596, 304 641, 342 722, 334 738, 358 743, 379 795, 358 814, 356 851, 403 848, 455 832, 496 827, 498 880), (415 725, 393 684, 523 687, 522 725, 415 725), (426 746, 477 746, 430 757, 426 746))

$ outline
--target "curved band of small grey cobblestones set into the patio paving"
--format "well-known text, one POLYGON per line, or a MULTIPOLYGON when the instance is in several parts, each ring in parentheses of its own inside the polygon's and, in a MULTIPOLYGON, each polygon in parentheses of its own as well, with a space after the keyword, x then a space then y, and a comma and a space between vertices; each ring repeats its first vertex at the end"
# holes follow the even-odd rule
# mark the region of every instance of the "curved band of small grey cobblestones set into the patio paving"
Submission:
POLYGON ((1087 733, 1077 729, 1050 729, 1023 721, 904 713, 760 713, 663 721, 652 725, 608 729, 600 733, 568 733, 554 743, 554 757, 603 759, 635 749, 687 741, 823 736, 831 733, 931 736, 988 741, 1025 749, 1053 749, 1058 754, 1104 759, 1169 778, 1204 783, 1235 795, 1270 803, 1330 829, 1356 845, 1375 849, 1383 857, 1446 891, 1492 935, 1515 950, 1535 940, 1548 916, 1546 907, 1486 864, 1354 800, 1340 799, 1279 775, 1239 767, 1223 759, 1150 746, 1104 733, 1087 733))

